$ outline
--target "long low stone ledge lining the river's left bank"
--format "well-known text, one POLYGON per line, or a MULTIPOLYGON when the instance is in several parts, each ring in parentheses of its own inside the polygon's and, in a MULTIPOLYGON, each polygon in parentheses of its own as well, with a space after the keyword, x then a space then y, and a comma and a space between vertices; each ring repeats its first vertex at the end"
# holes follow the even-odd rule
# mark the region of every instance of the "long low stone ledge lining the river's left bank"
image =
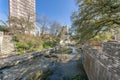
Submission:
POLYGON ((38 52, 32 52, 32 53, 26 53, 23 55, 16 55, 16 56, 12 56, 12 57, 8 57, 5 59, 0 59, 0 70, 6 67, 11 67, 14 65, 17 65, 19 63, 28 61, 32 58, 38 57, 38 56, 42 56, 46 53, 50 53, 52 51, 54 51, 55 49, 59 49, 60 47, 55 47, 55 48, 51 48, 51 49, 46 49, 43 51, 38 51, 38 52))

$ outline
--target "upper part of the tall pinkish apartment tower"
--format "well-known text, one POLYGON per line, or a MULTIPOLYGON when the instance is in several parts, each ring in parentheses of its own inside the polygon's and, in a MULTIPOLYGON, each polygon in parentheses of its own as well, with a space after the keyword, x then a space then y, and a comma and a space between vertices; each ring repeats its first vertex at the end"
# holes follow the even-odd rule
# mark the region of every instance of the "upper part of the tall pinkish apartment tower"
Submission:
POLYGON ((35 0, 9 0, 9 15, 35 22, 35 0))

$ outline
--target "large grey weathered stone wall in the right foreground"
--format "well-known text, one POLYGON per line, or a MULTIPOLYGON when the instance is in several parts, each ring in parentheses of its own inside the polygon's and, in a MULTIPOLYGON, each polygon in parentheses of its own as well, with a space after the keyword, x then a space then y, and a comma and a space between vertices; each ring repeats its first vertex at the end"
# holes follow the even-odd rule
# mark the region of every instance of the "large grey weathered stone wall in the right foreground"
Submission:
POLYGON ((99 51, 83 46, 83 66, 89 80, 120 80, 120 43, 106 42, 99 51))

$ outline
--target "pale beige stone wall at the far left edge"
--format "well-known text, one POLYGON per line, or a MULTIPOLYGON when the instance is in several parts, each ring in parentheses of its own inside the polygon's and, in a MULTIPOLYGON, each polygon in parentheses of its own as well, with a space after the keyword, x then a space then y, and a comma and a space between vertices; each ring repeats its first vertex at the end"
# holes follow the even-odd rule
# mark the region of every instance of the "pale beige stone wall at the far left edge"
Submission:
POLYGON ((12 40, 12 36, 4 35, 0 58, 5 58, 13 55, 16 55, 16 50, 15 50, 14 42, 12 40))

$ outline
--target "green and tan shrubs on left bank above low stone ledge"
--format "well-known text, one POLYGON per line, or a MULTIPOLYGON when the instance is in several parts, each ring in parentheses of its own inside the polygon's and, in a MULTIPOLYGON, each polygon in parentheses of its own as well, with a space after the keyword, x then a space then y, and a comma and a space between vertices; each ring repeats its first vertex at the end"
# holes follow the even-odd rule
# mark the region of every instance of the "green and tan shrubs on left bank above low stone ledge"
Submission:
POLYGON ((41 38, 40 36, 16 34, 13 37, 18 54, 48 49, 58 45, 56 40, 41 38))

